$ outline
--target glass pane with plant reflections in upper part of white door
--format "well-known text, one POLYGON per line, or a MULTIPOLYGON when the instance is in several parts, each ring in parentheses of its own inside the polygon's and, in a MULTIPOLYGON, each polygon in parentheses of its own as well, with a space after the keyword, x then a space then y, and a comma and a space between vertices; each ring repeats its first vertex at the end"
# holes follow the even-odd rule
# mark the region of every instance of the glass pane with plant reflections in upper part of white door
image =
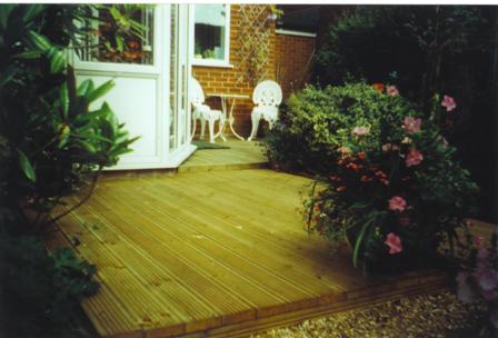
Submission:
POLYGON ((153 8, 107 4, 86 41, 83 61, 153 64, 153 8))

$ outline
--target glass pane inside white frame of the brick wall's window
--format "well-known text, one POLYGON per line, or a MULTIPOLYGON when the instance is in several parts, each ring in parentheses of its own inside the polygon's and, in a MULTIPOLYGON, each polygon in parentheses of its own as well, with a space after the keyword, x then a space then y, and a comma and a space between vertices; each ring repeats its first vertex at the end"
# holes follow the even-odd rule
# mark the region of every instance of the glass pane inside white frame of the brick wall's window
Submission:
POLYGON ((196 59, 225 60, 226 4, 196 4, 196 59))

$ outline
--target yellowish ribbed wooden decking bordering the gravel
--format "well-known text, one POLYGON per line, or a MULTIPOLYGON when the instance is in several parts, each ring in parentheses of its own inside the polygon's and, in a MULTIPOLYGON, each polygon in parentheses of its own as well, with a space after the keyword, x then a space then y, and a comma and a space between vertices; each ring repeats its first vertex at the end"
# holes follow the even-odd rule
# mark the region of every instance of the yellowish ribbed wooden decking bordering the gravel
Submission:
POLYGON ((248 337, 444 284, 435 271, 367 280, 349 252, 331 257, 303 230, 300 192, 309 179, 191 165, 175 176, 103 179, 47 233, 50 247, 78 238, 78 252, 97 265, 101 289, 82 307, 99 335, 248 337))

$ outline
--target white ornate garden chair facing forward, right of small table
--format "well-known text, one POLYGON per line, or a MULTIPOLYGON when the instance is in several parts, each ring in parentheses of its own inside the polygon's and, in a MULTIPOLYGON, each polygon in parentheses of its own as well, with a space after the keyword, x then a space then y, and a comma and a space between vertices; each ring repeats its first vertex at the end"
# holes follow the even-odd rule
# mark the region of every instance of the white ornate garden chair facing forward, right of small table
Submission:
POLYGON ((247 139, 252 140, 258 133, 259 121, 265 119, 270 129, 278 119, 278 107, 282 102, 282 90, 280 86, 271 80, 266 80, 259 82, 252 92, 252 102, 256 107, 252 108, 251 122, 252 129, 251 135, 247 139))

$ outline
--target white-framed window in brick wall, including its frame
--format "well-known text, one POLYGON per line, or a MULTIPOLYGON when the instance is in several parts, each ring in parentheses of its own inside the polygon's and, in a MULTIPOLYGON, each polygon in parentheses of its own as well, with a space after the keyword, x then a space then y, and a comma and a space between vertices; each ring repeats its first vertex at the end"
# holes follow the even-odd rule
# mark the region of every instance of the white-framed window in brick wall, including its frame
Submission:
POLYGON ((193 64, 229 64, 230 6, 196 4, 193 33, 193 64))

